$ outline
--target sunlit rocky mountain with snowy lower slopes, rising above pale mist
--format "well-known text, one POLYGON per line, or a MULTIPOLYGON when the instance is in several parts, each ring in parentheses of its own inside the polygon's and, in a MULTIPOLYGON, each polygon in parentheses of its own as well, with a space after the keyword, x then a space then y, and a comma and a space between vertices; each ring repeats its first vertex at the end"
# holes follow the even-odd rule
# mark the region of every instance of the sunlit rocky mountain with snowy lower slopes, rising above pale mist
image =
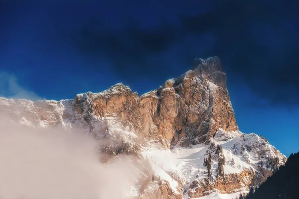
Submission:
POLYGON ((79 128, 100 141, 102 161, 137 157, 127 198, 226 198, 264 182, 286 157, 254 133, 239 131, 220 59, 138 96, 123 84, 73 100, 0 98, 0 112, 33 128, 79 128))

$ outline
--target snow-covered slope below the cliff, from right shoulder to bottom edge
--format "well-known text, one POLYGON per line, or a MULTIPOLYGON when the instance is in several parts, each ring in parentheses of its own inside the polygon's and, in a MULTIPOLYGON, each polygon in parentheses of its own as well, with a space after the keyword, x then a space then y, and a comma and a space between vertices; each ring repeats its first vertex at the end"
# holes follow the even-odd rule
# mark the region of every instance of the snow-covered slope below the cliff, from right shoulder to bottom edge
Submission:
MULTIPOLYGON (((257 175, 260 172, 261 166, 265 170, 273 169, 273 165, 269 164, 267 167, 267 159, 279 158, 279 164, 284 164, 286 157, 282 155, 274 146, 270 145, 268 141, 258 135, 244 134, 240 131, 225 133, 223 130, 219 130, 214 139, 211 140, 211 144, 197 144, 189 148, 174 146, 171 150, 160 150, 154 146, 144 147, 142 154, 145 158, 148 158, 150 163, 154 165, 153 170, 157 174, 161 173, 161 170, 167 173, 177 175, 177 177, 183 182, 184 185, 184 199, 189 199, 188 192, 190 192, 191 184, 194 181, 201 182, 207 176, 207 167, 204 166, 204 159, 208 158, 208 153, 212 153, 212 176, 210 181, 217 181, 217 168, 218 168, 218 156, 215 154, 217 145, 221 145, 223 155, 225 157, 224 174, 239 174, 245 170, 252 170, 257 175), (213 146, 214 147, 211 147, 213 146), (262 146, 262 147, 261 147, 262 146), (263 165, 261 165, 263 163, 263 165)), ((165 176, 165 173, 162 174, 165 176)), ((163 177, 169 181, 170 176, 163 177)), ((242 176, 244 178, 244 176, 242 176)), ((252 177, 249 177, 248 185, 252 182, 252 177)), ((170 178, 171 179, 171 178, 170 178)), ((177 183, 174 180, 169 181, 175 186, 177 183), (175 182, 175 183, 173 183, 175 182)), ((230 190, 230 193, 247 192, 248 185, 240 184, 235 190, 230 190)), ((192 190, 191 190, 192 191, 192 190)), ((209 197, 203 197, 204 199, 226 199, 226 197, 235 196, 235 194, 227 195, 225 189, 207 190, 203 195, 213 193, 209 197), (212 197, 213 196, 213 197, 212 197)), ((232 197, 232 198, 233 198, 232 197)))

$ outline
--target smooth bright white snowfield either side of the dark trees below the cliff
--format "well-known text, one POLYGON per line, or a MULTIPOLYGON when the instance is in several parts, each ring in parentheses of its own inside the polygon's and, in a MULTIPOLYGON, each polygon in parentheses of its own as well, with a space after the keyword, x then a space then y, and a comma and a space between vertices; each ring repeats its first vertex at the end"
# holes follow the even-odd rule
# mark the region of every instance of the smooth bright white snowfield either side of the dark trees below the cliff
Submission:
MULTIPOLYGON (((235 140, 236 141, 236 140, 235 140)), ((240 157, 233 154, 231 146, 232 142, 216 142, 215 145, 221 144, 223 153, 227 164, 224 166, 225 174, 240 173, 245 168, 253 168, 251 165, 244 162, 240 157), (226 149, 226 147, 228 149, 226 149), (231 165, 231 160, 234 159, 235 165, 231 165)), ((175 146, 170 150, 152 149, 152 147, 143 149, 143 156, 149 158, 156 166, 163 168, 165 171, 178 172, 183 176, 185 182, 192 182, 193 180, 201 180, 207 177, 207 168, 203 166, 204 158, 208 155, 206 151, 210 145, 198 144, 190 148, 175 146)), ((218 167, 217 160, 213 161, 212 171, 216 175, 218 167)))

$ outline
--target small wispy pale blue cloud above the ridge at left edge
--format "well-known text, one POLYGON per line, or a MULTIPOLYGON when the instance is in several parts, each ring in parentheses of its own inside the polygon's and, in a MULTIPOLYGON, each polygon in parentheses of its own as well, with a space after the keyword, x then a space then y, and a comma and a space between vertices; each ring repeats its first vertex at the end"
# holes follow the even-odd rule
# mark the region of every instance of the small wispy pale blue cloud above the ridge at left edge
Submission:
POLYGON ((4 71, 0 71, 0 97, 28 100, 42 99, 33 91, 29 91, 19 85, 17 78, 13 74, 4 71))

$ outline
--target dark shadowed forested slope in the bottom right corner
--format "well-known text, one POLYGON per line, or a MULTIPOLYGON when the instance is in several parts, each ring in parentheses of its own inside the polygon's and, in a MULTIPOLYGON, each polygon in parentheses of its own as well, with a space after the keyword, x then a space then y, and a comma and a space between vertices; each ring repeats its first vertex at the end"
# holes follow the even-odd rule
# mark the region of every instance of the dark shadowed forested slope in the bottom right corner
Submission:
POLYGON ((282 165, 255 192, 246 199, 298 199, 299 198, 299 153, 291 154, 282 165))

